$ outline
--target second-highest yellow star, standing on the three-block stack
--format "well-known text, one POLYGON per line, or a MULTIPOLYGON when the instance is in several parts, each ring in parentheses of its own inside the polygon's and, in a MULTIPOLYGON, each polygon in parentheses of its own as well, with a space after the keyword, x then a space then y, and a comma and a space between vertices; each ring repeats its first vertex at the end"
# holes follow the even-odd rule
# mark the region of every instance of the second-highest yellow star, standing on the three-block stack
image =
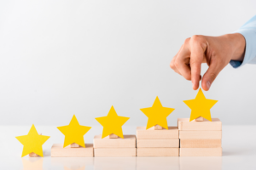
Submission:
POLYGON ((147 128, 154 127, 154 125, 160 125, 168 129, 167 116, 169 116, 174 109, 163 107, 160 103, 160 99, 156 96, 152 107, 141 109, 143 113, 148 116, 147 128))

